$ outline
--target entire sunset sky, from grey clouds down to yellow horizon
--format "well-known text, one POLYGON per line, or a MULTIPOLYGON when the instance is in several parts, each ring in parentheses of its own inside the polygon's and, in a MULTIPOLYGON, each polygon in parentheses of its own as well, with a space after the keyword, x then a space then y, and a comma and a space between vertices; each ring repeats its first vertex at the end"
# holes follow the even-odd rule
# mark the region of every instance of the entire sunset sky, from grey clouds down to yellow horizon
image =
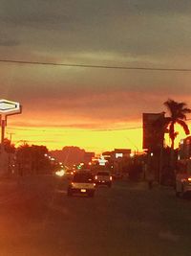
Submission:
MULTIPOLYGON (((191 69, 190 24, 189 0, 0 0, 0 60, 191 69)), ((1 61, 0 98, 23 105, 6 128, 17 145, 140 151, 143 112, 191 108, 191 71, 1 61)))

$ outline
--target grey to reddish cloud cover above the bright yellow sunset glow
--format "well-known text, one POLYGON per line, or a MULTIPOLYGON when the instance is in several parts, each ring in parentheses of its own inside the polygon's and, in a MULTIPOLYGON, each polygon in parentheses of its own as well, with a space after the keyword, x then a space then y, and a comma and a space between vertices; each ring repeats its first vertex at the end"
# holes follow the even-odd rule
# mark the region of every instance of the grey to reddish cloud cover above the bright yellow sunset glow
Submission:
MULTIPOLYGON (((189 68, 190 23, 185 0, 0 0, 0 57, 189 68)), ((124 121, 168 97, 191 102, 189 73, 1 63, 0 75, 4 98, 63 115, 124 121)))

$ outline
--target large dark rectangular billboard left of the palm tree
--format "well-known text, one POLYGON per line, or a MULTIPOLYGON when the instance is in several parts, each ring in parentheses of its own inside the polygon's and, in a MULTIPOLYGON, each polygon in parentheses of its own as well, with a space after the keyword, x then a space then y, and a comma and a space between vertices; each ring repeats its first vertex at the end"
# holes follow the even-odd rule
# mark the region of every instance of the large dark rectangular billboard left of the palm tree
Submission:
POLYGON ((164 112, 142 114, 143 150, 154 150, 163 145, 164 129, 162 128, 162 123, 158 126, 156 125, 159 120, 164 120, 164 112))

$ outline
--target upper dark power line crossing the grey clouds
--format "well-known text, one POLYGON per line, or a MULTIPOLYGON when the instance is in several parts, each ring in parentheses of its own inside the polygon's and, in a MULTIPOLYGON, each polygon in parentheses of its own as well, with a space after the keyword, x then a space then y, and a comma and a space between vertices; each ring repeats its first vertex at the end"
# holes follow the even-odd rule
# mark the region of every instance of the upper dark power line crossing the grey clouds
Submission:
POLYGON ((138 67, 138 66, 109 66, 95 64, 71 64, 71 63, 56 63, 42 61, 27 61, 16 59, 0 59, 0 62, 12 64, 29 64, 29 65, 50 65, 50 66, 65 66, 65 67, 81 67, 81 68, 102 68, 102 69, 121 69, 121 70, 142 70, 142 71, 173 71, 173 72, 191 72, 190 68, 159 68, 159 67, 138 67))

